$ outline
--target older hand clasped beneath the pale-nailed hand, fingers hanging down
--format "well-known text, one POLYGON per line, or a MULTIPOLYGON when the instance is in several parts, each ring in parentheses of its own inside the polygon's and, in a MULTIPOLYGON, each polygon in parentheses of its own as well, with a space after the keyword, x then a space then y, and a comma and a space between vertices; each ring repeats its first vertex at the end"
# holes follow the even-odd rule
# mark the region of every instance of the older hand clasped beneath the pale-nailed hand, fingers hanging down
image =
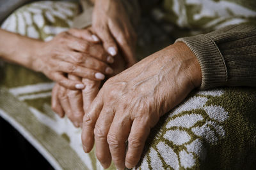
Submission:
MULTIPOLYGON (((111 64, 111 67, 115 69, 109 76, 118 74, 125 69, 125 62, 120 55, 115 57, 115 62, 111 64)), ((75 127, 81 127, 84 113, 88 113, 90 104, 99 92, 100 81, 82 79, 72 74, 68 74, 68 79, 82 81, 85 88, 70 90, 56 84, 52 89, 52 110, 58 113, 60 117, 67 115, 75 127)))

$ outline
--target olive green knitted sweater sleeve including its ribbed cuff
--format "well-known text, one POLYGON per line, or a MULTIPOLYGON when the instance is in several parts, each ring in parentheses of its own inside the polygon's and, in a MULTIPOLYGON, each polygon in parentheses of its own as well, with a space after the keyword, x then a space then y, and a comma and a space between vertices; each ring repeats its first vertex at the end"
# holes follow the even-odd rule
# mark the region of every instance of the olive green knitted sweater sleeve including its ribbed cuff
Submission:
POLYGON ((229 25, 176 41, 186 43, 202 70, 200 89, 256 87, 256 26, 229 25))

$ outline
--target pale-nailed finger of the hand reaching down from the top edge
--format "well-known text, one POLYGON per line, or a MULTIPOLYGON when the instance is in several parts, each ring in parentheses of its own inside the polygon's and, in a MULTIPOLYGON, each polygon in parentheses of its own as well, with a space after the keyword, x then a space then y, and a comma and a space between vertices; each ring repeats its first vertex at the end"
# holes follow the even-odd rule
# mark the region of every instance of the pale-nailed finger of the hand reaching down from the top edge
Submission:
POLYGON ((108 26, 93 25, 93 30, 97 33, 99 38, 102 40, 105 50, 111 55, 117 54, 116 42, 111 35, 108 26))

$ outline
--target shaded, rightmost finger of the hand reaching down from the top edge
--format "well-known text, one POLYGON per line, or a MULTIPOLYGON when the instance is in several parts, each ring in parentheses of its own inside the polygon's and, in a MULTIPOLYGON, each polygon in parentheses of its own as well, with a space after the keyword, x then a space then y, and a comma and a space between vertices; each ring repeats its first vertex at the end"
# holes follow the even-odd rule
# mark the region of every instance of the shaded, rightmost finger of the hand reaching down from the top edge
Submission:
POLYGON ((131 67, 137 62, 135 57, 135 32, 131 25, 127 25, 128 29, 125 31, 122 27, 109 23, 111 34, 116 39, 116 43, 120 47, 120 50, 124 54, 127 65, 131 67))

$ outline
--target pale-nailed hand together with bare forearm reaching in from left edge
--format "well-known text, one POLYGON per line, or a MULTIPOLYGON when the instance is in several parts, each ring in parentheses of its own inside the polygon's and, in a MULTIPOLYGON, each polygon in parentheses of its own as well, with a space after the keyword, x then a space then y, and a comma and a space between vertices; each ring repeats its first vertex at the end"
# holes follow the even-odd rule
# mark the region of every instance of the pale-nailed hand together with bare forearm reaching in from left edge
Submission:
POLYGON ((108 66, 113 57, 90 28, 70 29, 47 42, 0 29, 0 45, 1 59, 42 72, 67 89, 84 89, 81 81, 69 80, 68 73, 99 81, 113 72, 108 66))

